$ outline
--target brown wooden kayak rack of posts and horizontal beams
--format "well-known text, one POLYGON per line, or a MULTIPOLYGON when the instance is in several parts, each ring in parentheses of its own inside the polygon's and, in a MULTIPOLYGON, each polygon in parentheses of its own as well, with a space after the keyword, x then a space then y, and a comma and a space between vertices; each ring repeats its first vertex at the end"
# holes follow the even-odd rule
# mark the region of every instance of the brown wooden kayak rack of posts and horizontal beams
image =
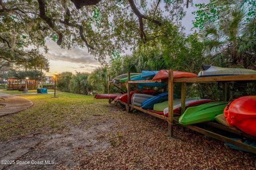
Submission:
MULTIPOLYGON (((109 78, 110 80, 110 78, 109 78)), ((121 102, 123 105, 125 105, 126 107, 126 111, 127 113, 129 113, 131 111, 131 108, 133 109, 137 109, 138 111, 141 111, 143 113, 147 113, 150 115, 153 115, 155 117, 161 118, 162 120, 166 120, 168 122, 168 135, 170 137, 173 137, 173 126, 175 124, 177 124, 177 122, 175 122, 175 124, 173 123, 174 121, 177 121, 178 117, 174 117, 174 113, 173 113, 173 94, 174 94, 174 83, 181 83, 181 114, 183 114, 185 112, 185 103, 186 103, 186 83, 209 83, 209 82, 222 82, 223 83, 223 100, 227 101, 227 86, 226 83, 227 82, 231 82, 231 81, 244 81, 244 82, 248 82, 248 81, 256 81, 256 74, 250 74, 250 75, 223 75, 223 76, 213 76, 213 77, 196 77, 196 78, 173 78, 173 70, 169 70, 169 79, 163 81, 163 80, 145 80, 145 81, 130 81, 130 72, 128 72, 128 81, 126 81, 125 87, 127 88, 127 98, 130 99, 130 91, 131 91, 131 86, 132 84, 137 84, 137 83, 153 83, 153 82, 168 82, 168 95, 169 95, 169 99, 168 99, 168 104, 169 104, 169 114, 168 116, 164 116, 164 115, 159 115, 153 112, 148 111, 147 109, 143 109, 137 106, 133 106, 130 104, 130 100, 127 100, 127 104, 121 102)), ((110 91, 110 84, 109 84, 109 89, 110 91)), ((253 139, 256 140, 256 137, 253 137, 249 134, 245 134, 242 131, 237 130, 236 128, 232 128, 232 127, 228 127, 225 125, 221 125, 221 124, 217 124, 217 123, 213 123, 213 122, 206 122, 206 123, 202 123, 204 125, 207 126, 211 126, 215 129, 218 129, 218 131, 211 131, 209 129, 205 129, 202 128, 202 126, 198 126, 196 125, 181 125, 185 128, 188 128, 190 130, 196 131, 198 133, 202 133, 208 137, 223 141, 223 142, 228 142, 231 145, 235 145, 239 148, 248 150, 250 152, 253 152, 254 154, 256 154, 256 147, 252 147, 250 145, 246 145, 245 143, 239 142, 239 141, 235 141, 232 140, 230 138, 228 138, 225 134, 223 134, 223 132, 227 132, 227 133, 231 133, 231 134, 235 134, 235 135, 239 135, 243 138, 249 138, 249 139, 253 139)))

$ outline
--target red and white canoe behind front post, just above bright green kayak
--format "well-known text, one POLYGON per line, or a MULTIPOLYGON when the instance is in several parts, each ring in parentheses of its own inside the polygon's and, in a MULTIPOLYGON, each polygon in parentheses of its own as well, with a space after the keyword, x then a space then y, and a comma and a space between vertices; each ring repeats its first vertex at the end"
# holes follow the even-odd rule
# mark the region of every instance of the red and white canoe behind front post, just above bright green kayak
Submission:
MULTIPOLYGON (((210 103, 210 102, 213 102, 213 100, 188 98, 186 100, 185 107, 188 108, 188 107, 198 106, 198 105, 202 105, 202 104, 210 103)), ((180 113, 180 110, 181 110, 181 103, 180 102, 177 105, 175 105, 175 104, 173 105, 173 113, 180 113)), ((168 108, 168 105, 167 105, 166 108, 164 109, 164 114, 167 116, 168 113, 169 113, 169 108, 168 108)))

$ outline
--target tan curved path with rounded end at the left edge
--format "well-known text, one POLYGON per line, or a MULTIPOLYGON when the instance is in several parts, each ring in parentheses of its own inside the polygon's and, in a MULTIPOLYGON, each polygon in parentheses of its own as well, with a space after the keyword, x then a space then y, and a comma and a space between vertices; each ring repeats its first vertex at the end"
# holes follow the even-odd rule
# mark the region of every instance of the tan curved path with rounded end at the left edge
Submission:
POLYGON ((32 101, 0 92, 0 116, 17 113, 32 106, 32 101))

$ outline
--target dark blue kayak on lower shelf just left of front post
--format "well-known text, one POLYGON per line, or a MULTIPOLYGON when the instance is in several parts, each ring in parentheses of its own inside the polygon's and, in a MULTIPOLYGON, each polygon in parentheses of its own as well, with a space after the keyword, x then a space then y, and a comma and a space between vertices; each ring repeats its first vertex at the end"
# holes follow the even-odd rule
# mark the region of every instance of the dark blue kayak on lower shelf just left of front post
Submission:
POLYGON ((143 101, 143 103, 141 104, 141 108, 144 109, 153 109, 154 108, 154 104, 156 103, 161 103, 163 101, 168 100, 168 93, 164 92, 162 94, 159 94, 157 96, 154 96, 146 101, 143 101))

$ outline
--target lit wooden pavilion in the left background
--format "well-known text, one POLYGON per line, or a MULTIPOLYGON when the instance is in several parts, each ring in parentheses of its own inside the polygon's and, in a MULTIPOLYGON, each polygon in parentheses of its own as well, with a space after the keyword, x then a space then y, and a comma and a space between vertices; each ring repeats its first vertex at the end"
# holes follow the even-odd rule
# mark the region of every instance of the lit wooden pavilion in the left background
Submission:
POLYGON ((26 88, 26 83, 29 90, 36 89, 36 80, 35 79, 20 79, 20 78, 8 78, 8 90, 23 90, 26 88))

